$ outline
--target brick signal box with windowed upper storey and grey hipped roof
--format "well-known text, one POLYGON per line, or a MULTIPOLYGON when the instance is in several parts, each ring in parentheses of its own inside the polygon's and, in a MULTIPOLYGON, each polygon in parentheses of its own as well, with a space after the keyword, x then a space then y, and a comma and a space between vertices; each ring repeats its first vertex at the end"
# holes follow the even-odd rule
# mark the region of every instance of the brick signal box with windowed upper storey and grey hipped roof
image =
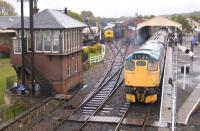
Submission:
MULTIPOLYGON (((31 87, 31 40, 29 19, 25 27, 26 87, 31 87)), ((85 24, 57 10, 46 9, 34 15, 35 82, 41 94, 50 90, 66 94, 83 84, 82 29, 85 24)), ((11 63, 21 77, 21 23, 10 27, 16 30, 12 38, 11 63)), ((31 88, 30 88, 31 89, 31 88)))

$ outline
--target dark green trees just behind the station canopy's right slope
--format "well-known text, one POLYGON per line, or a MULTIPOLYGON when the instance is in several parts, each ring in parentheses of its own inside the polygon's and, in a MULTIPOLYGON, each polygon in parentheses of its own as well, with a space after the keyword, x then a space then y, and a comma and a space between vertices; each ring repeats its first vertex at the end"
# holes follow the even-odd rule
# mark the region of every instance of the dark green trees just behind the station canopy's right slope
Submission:
POLYGON ((173 15, 171 17, 172 20, 177 21, 178 23, 182 24, 183 30, 191 31, 191 25, 187 21, 187 19, 182 15, 173 15))

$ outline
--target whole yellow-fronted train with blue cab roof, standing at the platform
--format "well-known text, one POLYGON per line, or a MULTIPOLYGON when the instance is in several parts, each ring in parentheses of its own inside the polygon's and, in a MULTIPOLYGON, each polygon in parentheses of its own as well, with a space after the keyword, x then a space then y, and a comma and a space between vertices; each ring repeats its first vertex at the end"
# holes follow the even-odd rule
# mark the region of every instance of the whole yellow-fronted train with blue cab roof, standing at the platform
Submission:
POLYGON ((160 30, 124 63, 126 100, 154 103, 157 101, 165 63, 167 32, 160 30))

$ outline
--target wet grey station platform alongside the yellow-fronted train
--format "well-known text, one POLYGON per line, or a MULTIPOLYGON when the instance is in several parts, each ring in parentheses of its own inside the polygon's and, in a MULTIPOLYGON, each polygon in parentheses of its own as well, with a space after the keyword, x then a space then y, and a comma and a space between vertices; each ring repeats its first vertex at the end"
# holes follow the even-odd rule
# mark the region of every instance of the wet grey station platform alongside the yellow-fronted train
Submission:
MULTIPOLYGON (((183 46, 190 49, 190 37, 184 38, 183 46)), ((172 119, 175 123, 189 124, 190 116, 200 107, 200 44, 194 47, 193 60, 176 47, 174 50, 168 47, 166 55, 159 122, 168 123, 170 129, 172 119), (185 78, 181 69, 184 65, 189 66, 185 78), (169 78, 172 78, 172 84, 169 84, 169 78), (176 100, 175 118, 172 118, 173 100, 176 100)))

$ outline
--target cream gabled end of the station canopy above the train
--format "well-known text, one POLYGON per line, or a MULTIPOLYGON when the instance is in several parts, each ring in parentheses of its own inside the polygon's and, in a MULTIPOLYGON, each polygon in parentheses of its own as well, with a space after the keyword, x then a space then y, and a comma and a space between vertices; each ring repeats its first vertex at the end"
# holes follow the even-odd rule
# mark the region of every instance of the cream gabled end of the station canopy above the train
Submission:
POLYGON ((150 20, 139 23, 137 25, 137 29, 140 29, 140 28, 145 27, 145 26, 161 26, 161 27, 162 26, 165 26, 165 27, 173 26, 173 27, 177 27, 180 30, 182 30, 182 25, 180 23, 175 22, 175 21, 170 20, 170 19, 165 18, 165 17, 161 17, 161 16, 157 16, 157 17, 154 17, 150 20))

